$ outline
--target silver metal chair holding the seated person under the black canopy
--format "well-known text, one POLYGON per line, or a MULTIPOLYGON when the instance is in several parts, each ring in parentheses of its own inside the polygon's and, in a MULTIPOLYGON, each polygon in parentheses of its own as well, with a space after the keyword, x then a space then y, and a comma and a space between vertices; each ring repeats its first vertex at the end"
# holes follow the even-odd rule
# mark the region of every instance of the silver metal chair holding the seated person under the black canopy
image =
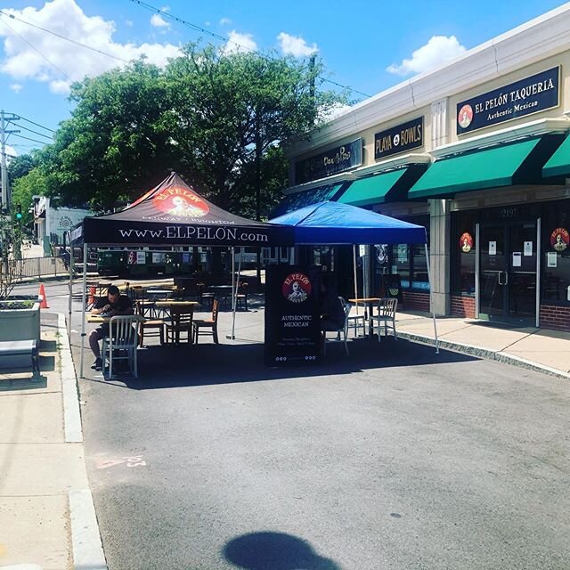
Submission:
POLYGON ((129 373, 138 378, 136 365, 136 346, 138 344, 138 328, 141 317, 126 315, 111 317, 109 337, 103 338, 102 361, 103 370, 109 369, 109 379, 113 379, 113 363, 127 361, 129 373))

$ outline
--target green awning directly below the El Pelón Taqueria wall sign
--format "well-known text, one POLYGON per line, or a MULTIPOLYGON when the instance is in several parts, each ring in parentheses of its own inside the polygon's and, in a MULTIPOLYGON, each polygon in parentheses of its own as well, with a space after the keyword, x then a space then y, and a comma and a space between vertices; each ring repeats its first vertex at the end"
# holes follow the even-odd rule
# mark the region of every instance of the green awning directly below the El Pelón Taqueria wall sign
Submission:
MULTIPOLYGON (((486 150, 438 159, 412 186, 408 198, 436 198, 457 192, 510 186, 514 183, 538 183, 534 176, 521 181, 515 180, 515 177, 523 173, 522 167, 526 159, 541 141, 540 138, 534 138, 510 144, 498 144, 486 150)), ((532 169, 533 174, 537 158, 539 157, 533 157, 529 161, 529 170, 532 169)), ((545 159, 542 154, 542 160, 545 159)))

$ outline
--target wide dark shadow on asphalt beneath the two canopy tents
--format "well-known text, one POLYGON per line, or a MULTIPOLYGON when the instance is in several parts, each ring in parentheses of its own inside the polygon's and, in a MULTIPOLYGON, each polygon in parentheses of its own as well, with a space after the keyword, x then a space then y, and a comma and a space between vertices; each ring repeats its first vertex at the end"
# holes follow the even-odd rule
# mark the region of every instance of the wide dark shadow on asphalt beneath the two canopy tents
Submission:
MULTIPOLYGON (((330 346, 321 362, 271 368, 264 363, 262 343, 185 346, 150 346, 138 353, 139 378, 119 379, 137 390, 153 388, 207 386, 259 380, 297 379, 350 374, 367 369, 419 366, 480 360, 467 354, 441 351, 403 339, 395 341, 356 341, 350 356, 344 346, 330 346), (335 350, 337 349, 337 350, 335 350)), ((87 373, 89 377, 89 373, 87 373)))

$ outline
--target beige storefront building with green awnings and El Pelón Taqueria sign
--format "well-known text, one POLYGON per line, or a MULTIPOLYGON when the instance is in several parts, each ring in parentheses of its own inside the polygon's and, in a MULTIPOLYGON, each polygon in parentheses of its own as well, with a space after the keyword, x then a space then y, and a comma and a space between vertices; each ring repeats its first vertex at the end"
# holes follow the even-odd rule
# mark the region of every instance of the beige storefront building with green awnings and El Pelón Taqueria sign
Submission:
MULTIPOLYGON (((336 199, 425 225, 436 314, 570 330, 569 133, 566 4, 291 147, 278 213, 336 199)), ((375 245, 428 310, 423 246, 375 245)))

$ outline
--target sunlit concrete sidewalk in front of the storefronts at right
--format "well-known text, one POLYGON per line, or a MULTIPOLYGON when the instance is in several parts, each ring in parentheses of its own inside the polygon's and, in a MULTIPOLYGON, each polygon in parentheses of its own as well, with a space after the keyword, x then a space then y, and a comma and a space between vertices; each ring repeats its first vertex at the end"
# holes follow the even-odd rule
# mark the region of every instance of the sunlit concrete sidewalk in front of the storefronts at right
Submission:
MULTIPOLYGON (((570 379, 570 333, 533 327, 501 327, 459 317, 438 317, 439 346, 570 379)), ((435 344, 434 322, 424 314, 398 313, 400 338, 435 344)))

